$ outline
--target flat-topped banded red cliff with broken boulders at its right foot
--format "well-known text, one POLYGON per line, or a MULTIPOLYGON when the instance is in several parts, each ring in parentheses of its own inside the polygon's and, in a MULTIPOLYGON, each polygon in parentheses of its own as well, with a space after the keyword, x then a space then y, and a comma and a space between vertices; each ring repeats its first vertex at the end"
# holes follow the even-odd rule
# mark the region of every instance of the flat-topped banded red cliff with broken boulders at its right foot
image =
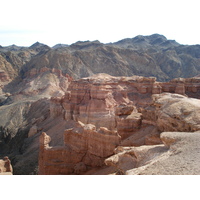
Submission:
POLYGON ((63 97, 52 98, 50 110, 52 116, 64 115, 67 121, 117 129, 125 138, 140 129, 142 122, 155 125, 156 116, 151 112, 154 109, 151 107, 152 95, 166 91, 190 95, 191 88, 196 88, 192 94, 198 96, 198 84, 198 78, 160 83, 153 77, 98 74, 72 81, 63 97))

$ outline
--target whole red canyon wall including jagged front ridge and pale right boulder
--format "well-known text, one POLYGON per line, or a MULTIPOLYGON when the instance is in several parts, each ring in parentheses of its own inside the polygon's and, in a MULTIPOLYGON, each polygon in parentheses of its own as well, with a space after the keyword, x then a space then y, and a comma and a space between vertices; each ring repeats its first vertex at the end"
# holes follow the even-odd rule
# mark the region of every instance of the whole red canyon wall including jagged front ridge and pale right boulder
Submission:
POLYGON ((160 83, 153 77, 98 74, 72 81, 67 93, 50 103, 51 118, 62 116, 72 128, 63 133, 63 146, 49 146, 50 139, 44 145, 48 136, 42 133, 39 174, 85 174, 105 167, 118 146, 161 145, 163 131, 199 130, 199 100, 187 97, 198 97, 199 89, 199 78, 160 83))

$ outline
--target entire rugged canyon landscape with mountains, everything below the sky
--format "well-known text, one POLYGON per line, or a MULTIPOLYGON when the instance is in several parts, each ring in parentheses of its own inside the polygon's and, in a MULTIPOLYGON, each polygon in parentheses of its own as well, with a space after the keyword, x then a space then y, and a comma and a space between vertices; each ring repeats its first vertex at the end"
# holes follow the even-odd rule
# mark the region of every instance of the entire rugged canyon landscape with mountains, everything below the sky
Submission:
POLYGON ((198 49, 158 34, 1 47, 1 172, 199 174, 198 49))

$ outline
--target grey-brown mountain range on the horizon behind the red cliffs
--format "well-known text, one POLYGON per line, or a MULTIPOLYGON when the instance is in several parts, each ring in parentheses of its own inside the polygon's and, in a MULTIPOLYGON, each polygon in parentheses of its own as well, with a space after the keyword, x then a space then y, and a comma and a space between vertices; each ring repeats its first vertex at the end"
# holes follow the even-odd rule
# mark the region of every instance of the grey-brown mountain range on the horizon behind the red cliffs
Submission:
POLYGON ((75 79, 106 72, 113 76, 154 76, 158 81, 169 81, 199 75, 199 50, 199 45, 181 45, 159 34, 109 44, 78 41, 52 48, 36 42, 30 47, 1 47, 0 70, 11 79, 23 77, 33 68, 47 67, 75 79))

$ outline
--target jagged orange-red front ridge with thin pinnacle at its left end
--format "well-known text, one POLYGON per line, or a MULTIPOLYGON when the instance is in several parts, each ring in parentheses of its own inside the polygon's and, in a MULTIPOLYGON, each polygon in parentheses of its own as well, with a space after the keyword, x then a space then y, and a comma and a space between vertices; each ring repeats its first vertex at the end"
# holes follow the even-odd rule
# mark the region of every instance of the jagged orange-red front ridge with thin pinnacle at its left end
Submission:
POLYGON ((64 146, 49 147, 50 137, 40 136, 39 174, 82 174, 91 167, 101 167, 120 143, 120 136, 106 128, 96 130, 78 122, 64 132, 64 146))

